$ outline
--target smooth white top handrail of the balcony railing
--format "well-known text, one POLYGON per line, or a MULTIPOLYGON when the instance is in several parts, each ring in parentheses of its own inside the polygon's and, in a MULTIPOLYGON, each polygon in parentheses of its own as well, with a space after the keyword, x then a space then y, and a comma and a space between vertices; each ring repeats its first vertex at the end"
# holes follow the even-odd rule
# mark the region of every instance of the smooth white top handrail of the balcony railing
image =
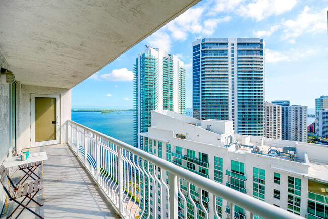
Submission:
POLYGON ((207 179, 205 177, 202 177, 196 173, 193 173, 191 171, 185 170, 184 168, 181 168, 177 165, 174 165, 173 163, 161 159, 157 156, 154 156, 152 154, 149 154, 143 150, 140 150, 136 147, 133 147, 127 143, 124 143, 118 139, 115 139, 113 137, 110 137, 108 135, 105 135, 103 133, 100 133, 98 131, 95 131, 89 127, 83 126, 77 122, 74 122, 72 120, 67 120, 70 123, 73 123, 79 127, 82 127, 89 132, 98 135, 99 137, 106 139, 117 146, 140 156, 143 159, 146 159, 149 162, 152 162, 154 165, 159 166, 162 169, 165 169, 166 171, 175 174, 179 176, 180 178, 186 180, 187 182, 190 182, 191 184, 194 184, 198 187, 201 187, 203 190, 206 190, 222 199, 225 199, 235 205, 238 205, 245 210, 252 212, 258 216, 264 217, 264 218, 302 218, 296 214, 293 214, 287 210, 278 208, 274 205, 271 205, 269 203, 266 203, 264 201, 260 201, 256 198, 253 198, 249 195, 243 194, 241 192, 238 192, 234 189, 231 189, 225 185, 222 185, 220 183, 217 183, 213 180, 207 179))

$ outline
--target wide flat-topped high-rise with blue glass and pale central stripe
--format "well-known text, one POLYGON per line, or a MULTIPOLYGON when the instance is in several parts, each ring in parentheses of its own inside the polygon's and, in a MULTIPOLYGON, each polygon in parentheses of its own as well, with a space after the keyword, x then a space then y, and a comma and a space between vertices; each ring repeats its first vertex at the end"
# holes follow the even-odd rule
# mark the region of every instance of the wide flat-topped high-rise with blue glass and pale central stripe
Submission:
POLYGON ((205 38, 193 46, 193 117, 232 120, 236 133, 264 135, 264 42, 205 38))

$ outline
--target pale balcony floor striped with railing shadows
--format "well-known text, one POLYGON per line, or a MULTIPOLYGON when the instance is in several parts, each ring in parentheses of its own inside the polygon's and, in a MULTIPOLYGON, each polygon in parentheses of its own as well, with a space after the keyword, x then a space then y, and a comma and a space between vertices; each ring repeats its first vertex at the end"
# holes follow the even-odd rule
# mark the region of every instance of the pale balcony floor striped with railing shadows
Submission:
MULTIPOLYGON (((30 153, 45 151, 48 160, 44 161, 44 197, 37 197, 40 215, 44 218, 119 218, 116 210, 108 203, 103 193, 95 185, 87 171, 80 165, 78 159, 66 144, 57 144, 30 149, 30 153)), ((14 180, 22 176, 17 171, 14 180)), ((39 192, 38 194, 41 194, 39 192)), ((21 199, 19 199, 21 200, 21 199)), ((17 204, 11 202, 5 215, 8 216, 17 204)), ((36 204, 28 205, 32 210, 36 204)), ((20 207, 19 209, 22 209, 20 207)), ((20 210, 13 215, 16 217, 20 210)), ((35 215, 24 210, 20 218, 35 218, 35 215)))

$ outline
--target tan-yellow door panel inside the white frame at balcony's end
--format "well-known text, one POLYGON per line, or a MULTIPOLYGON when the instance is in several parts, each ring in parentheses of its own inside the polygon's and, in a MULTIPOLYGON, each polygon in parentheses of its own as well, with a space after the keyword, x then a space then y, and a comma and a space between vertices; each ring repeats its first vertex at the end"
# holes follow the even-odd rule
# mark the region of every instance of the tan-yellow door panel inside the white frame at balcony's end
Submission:
POLYGON ((56 139, 56 98, 35 97, 35 142, 56 139))

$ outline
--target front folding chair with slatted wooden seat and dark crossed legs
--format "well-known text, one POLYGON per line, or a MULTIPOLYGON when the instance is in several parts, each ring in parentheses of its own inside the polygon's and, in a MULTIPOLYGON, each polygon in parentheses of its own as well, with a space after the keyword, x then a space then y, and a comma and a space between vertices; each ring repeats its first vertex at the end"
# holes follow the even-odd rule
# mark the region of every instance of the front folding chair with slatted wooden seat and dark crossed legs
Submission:
POLYGON ((10 201, 14 201, 15 203, 18 204, 18 206, 15 208, 15 210, 7 217, 12 217, 13 214, 15 213, 15 211, 22 206, 23 209, 19 212, 19 214, 17 215, 16 218, 19 217, 19 215, 21 215, 21 213, 27 209, 28 211, 30 211, 31 213, 35 214, 36 216, 38 216, 39 218, 43 218, 42 216, 40 216, 40 206, 43 206, 43 204, 38 203, 37 201, 34 200, 35 195, 43 189, 43 178, 41 179, 37 179, 35 181, 30 181, 28 183, 19 185, 18 187, 16 187, 14 185, 14 183, 12 182, 12 180, 10 179, 10 177, 7 175, 7 169, 5 169, 4 166, 1 166, 0 168, 0 182, 9 198, 10 201), (10 182, 10 184, 12 185, 12 187, 14 188, 14 192, 11 195, 9 193, 9 191, 7 190, 6 184, 4 183, 4 180, 6 179, 6 176, 10 182), (17 199, 24 197, 23 200, 18 201, 17 199), (25 201, 25 199, 28 198, 29 201, 24 205, 23 202, 25 201), (36 212, 34 212, 33 210, 31 210, 30 208, 27 207, 27 205, 33 201, 34 203, 36 203, 39 206, 39 214, 37 214, 36 212))

